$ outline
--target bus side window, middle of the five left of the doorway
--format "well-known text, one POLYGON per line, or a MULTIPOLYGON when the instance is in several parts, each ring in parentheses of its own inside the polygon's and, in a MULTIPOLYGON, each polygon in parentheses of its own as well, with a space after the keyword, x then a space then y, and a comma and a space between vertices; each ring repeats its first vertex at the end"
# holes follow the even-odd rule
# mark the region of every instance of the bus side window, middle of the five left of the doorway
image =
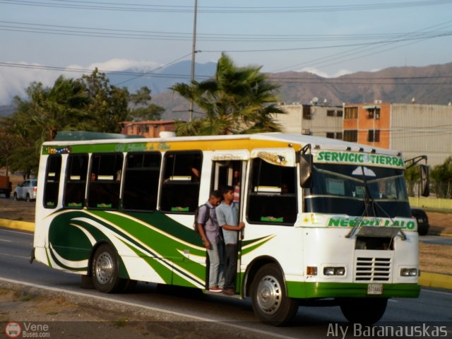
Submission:
POLYGON ((88 208, 117 209, 122 169, 122 154, 93 153, 91 156, 88 208))

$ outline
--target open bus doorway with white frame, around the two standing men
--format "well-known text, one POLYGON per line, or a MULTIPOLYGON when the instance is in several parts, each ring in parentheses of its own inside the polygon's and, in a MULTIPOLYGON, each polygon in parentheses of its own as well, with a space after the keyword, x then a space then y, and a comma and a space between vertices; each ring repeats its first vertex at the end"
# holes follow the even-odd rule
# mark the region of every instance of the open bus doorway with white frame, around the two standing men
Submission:
MULTIPOLYGON (((245 197, 245 179, 246 168, 249 160, 249 153, 246 150, 232 152, 215 152, 213 155, 213 172, 211 178, 211 190, 222 190, 225 186, 232 186, 234 188, 234 203, 237 203, 239 210, 239 221, 244 221, 244 203, 245 197)), ((246 227, 244 229, 246 232, 246 227)), ((244 232, 239 233, 238 253, 237 253, 237 273, 240 270, 241 258, 241 240, 244 237, 244 232)), ((207 266, 208 267, 208 266, 207 266)), ((239 274, 237 274, 237 277, 239 274)), ((241 287, 239 281, 236 284, 241 287)))

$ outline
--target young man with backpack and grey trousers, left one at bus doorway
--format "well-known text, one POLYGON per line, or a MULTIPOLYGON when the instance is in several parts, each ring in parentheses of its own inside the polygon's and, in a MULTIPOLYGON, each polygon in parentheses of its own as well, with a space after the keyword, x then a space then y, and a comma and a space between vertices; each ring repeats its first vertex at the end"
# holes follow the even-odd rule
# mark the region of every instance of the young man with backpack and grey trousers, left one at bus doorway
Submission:
POLYGON ((207 249, 209 256, 209 285, 208 290, 210 292, 221 292, 225 283, 223 275, 223 251, 224 243, 222 238, 222 232, 220 232, 220 226, 218 225, 217 215, 215 213, 215 207, 221 201, 220 191, 213 191, 210 194, 205 208, 199 208, 198 219, 198 232, 203 239, 203 244, 207 249), (209 213, 210 217, 204 224, 206 213, 209 213))

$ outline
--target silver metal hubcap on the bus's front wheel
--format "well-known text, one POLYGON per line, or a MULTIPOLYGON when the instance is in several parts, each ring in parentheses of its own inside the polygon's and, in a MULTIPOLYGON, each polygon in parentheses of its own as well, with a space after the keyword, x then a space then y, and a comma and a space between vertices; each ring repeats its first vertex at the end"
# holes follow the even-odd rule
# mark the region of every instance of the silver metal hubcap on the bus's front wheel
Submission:
POLYGON ((274 314, 281 306, 282 291, 278 280, 266 275, 257 288, 257 303, 266 314, 274 314))

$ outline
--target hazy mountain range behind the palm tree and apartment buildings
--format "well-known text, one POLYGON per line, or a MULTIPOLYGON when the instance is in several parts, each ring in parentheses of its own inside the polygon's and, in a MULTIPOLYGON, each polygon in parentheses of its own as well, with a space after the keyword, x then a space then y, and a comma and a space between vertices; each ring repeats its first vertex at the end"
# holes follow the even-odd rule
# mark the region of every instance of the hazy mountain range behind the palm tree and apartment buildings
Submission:
MULTIPOLYGON (((121 73, 107 73, 110 83, 126 86, 133 93, 146 85, 152 102, 165 108, 162 119, 188 119, 189 103, 169 88, 174 83, 189 83, 191 61, 179 61, 143 76, 125 78, 121 73)), ((196 80, 215 74, 216 63, 196 64, 196 80)), ((140 73, 143 73, 141 71, 140 73)), ((422 67, 391 67, 380 71, 350 73, 337 78, 324 78, 309 72, 268 73, 280 85, 280 102, 342 105, 343 102, 417 102, 448 105, 452 101, 452 62, 422 67)), ((0 106, 0 115, 11 114, 13 107, 0 106)), ((196 115, 196 110, 195 110, 196 115)))

